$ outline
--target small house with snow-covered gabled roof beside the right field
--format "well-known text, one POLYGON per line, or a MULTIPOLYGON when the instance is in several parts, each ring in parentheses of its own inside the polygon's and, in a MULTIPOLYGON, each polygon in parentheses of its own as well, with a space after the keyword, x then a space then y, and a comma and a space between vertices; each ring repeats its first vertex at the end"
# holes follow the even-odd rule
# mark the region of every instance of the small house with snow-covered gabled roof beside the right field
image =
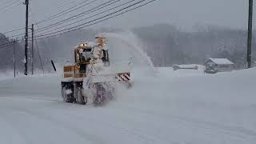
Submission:
POLYGON ((208 74, 234 70, 234 63, 227 58, 209 58, 204 64, 204 71, 208 74))

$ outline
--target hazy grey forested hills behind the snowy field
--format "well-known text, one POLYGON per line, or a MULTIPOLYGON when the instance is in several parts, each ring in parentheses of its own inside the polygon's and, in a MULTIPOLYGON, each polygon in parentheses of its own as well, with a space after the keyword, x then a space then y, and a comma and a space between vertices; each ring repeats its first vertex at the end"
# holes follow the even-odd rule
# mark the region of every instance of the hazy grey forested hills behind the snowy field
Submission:
MULTIPOLYGON (((43 66, 46 72, 51 72, 50 60, 54 59, 56 62, 62 62, 65 61, 64 57, 70 58, 72 56, 70 48, 76 46, 79 42, 84 40, 91 41, 94 35, 98 33, 119 31, 122 30, 111 28, 102 28, 101 30, 86 29, 40 40, 34 48, 35 68, 40 71, 43 66), (38 54, 41 54, 42 66, 38 54)), ((154 66, 203 64, 207 58, 229 58, 235 63, 237 69, 246 67, 246 30, 234 30, 221 26, 198 26, 194 32, 184 32, 175 26, 158 24, 137 27, 131 31, 141 40, 143 49, 150 56, 154 66)), ((254 31, 254 36, 255 34, 254 31)), ((255 63, 256 41, 254 36, 252 46, 253 62, 255 63)), ((1 33, 0 39, 0 71, 13 69, 13 46, 15 46, 16 66, 18 71, 22 73, 24 44, 16 42, 15 44, 4 45, 14 39, 10 39, 1 33)))

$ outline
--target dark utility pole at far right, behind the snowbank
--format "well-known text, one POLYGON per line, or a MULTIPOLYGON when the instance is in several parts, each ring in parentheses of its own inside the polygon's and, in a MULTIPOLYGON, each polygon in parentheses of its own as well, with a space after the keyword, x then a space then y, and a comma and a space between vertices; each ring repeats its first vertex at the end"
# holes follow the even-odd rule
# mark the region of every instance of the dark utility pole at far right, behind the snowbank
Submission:
POLYGON ((248 37, 247 37, 247 68, 251 68, 251 39, 253 29, 253 0, 249 0, 248 37))

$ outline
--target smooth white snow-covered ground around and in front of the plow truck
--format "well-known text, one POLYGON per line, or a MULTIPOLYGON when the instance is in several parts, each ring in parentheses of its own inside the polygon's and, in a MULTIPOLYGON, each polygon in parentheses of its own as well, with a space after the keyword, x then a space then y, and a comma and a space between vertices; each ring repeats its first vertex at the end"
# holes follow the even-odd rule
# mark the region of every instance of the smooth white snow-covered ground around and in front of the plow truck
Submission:
POLYGON ((2 79, 0 143, 256 143, 256 69, 157 71, 103 107, 62 102, 57 74, 2 79))

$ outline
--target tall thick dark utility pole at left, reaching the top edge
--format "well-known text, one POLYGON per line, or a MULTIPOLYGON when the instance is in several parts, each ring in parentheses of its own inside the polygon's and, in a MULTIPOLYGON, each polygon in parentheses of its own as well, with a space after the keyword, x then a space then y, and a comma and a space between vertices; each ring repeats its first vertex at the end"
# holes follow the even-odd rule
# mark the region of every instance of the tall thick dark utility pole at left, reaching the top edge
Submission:
POLYGON ((28 29, 29 29, 29 0, 25 0, 26 5, 26 34, 25 34, 25 71, 24 74, 27 75, 27 50, 28 50, 28 29))

